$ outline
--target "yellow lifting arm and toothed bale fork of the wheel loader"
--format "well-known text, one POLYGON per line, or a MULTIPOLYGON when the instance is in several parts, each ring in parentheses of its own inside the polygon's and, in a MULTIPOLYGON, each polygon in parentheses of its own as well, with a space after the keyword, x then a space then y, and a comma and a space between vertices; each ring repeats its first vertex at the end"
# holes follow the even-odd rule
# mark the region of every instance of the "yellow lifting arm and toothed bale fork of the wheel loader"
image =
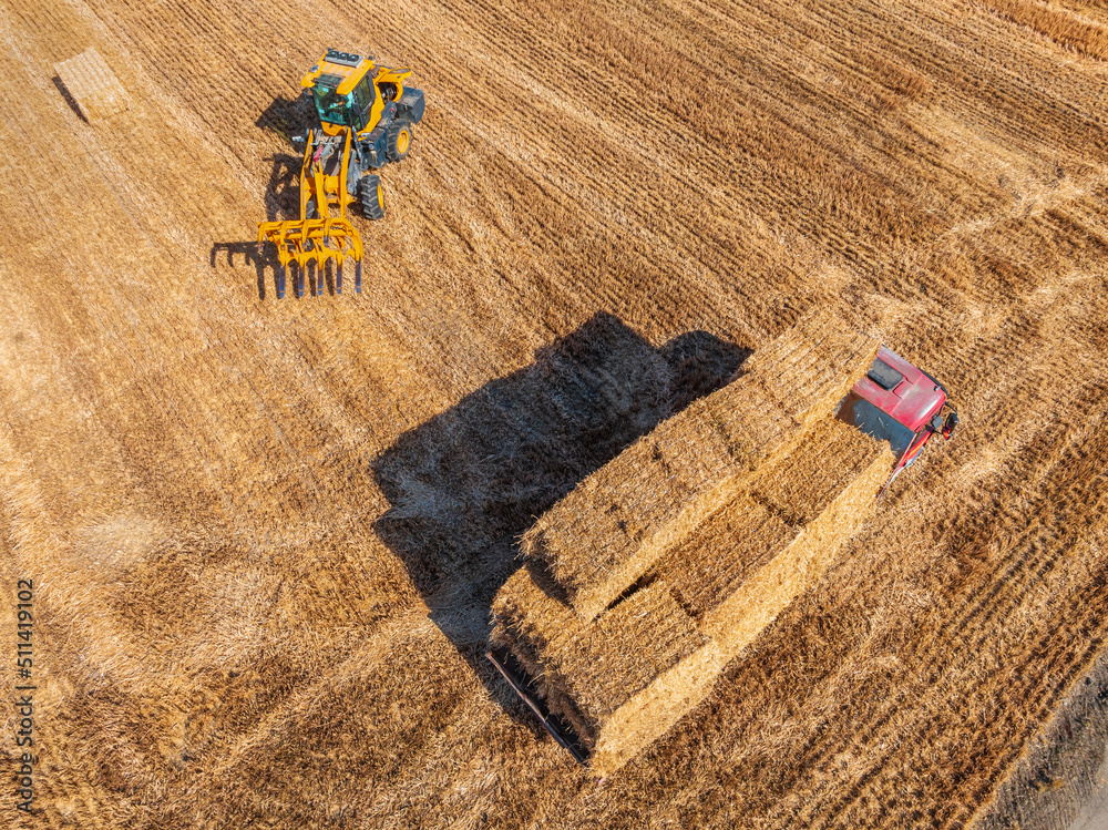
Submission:
POLYGON ((322 294, 328 259, 337 265, 335 289, 341 294, 342 263, 347 257, 355 262, 355 290, 361 294, 361 236, 347 218, 347 205, 353 201, 347 192, 351 131, 343 133, 341 140, 317 135, 315 131, 308 133, 300 167, 300 218, 258 224, 258 246, 269 242, 277 247, 278 298, 285 296, 285 275, 293 262, 297 264, 297 297, 304 296, 308 263, 316 264, 315 294, 322 294), (338 156, 340 141, 341 156, 338 156), (332 208, 337 209, 337 216, 331 215, 332 208))

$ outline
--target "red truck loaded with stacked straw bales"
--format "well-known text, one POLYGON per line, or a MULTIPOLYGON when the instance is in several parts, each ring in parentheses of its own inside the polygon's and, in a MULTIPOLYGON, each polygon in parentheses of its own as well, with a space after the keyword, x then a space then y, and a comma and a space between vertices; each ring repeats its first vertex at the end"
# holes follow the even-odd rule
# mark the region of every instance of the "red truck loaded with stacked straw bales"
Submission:
POLYGON ((523 536, 490 659, 607 775, 696 707, 957 414, 869 336, 813 315, 585 479, 523 536))

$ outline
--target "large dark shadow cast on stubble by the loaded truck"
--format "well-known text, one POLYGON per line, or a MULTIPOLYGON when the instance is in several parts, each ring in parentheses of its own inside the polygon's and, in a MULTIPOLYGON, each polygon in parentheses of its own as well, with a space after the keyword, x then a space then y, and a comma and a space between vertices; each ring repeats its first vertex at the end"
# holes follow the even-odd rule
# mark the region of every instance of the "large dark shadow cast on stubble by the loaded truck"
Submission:
POLYGON ((639 436, 724 386, 749 353, 705 331, 655 348, 598 314, 376 459, 390 508, 375 531, 501 700, 511 695, 484 650, 493 597, 522 562, 519 536, 639 436))

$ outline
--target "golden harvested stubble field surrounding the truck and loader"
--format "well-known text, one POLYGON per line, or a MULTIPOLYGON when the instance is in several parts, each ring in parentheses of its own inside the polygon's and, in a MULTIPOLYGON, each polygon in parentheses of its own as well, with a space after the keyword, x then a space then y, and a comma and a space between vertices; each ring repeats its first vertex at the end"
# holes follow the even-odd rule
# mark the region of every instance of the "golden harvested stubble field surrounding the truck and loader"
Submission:
POLYGON ((1102 4, 0 0, 0 823, 1004 827, 1038 797, 1006 781, 1108 636, 1102 4), (411 66, 427 115, 355 218, 362 293, 278 300, 254 239, 297 209, 328 47, 411 66), (962 426, 598 782, 482 656, 520 539, 813 309, 962 426))

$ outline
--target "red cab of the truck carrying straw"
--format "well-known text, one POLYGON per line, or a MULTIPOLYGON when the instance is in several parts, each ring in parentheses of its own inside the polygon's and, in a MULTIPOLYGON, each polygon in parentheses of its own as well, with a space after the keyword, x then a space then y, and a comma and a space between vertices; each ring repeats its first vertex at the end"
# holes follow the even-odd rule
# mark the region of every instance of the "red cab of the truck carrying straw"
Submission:
POLYGON ((933 434, 950 439, 958 423, 946 388, 884 346, 865 377, 842 399, 837 417, 892 448, 896 467, 882 493, 920 457, 933 434))

